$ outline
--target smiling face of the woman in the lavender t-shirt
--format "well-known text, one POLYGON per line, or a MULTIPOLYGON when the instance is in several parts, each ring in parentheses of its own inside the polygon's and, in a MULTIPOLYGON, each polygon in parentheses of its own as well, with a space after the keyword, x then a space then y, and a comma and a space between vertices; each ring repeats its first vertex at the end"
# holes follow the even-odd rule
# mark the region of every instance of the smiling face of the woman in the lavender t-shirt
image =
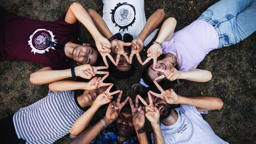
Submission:
MULTIPOLYGON (((165 59, 157 60, 156 65, 155 65, 156 69, 164 69, 164 70, 170 70, 172 67, 173 67, 173 64, 170 61, 165 60, 165 59)), ((153 64, 151 66, 149 66, 149 68, 148 68, 148 75, 152 81, 154 81, 155 78, 157 78, 158 76, 163 75, 163 74, 165 74, 165 73, 155 71, 153 69, 153 64)), ((167 77, 167 75, 166 75, 166 77, 167 77)), ((159 80, 157 80, 157 82, 160 82, 162 80, 163 79, 159 79, 159 80)))

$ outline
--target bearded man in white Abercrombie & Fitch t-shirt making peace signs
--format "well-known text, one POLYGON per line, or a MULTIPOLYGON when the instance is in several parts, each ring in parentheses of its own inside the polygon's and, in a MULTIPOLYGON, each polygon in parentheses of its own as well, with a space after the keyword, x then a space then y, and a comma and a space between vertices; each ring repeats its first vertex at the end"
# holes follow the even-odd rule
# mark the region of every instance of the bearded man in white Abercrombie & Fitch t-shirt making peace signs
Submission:
POLYGON ((201 115, 208 110, 221 109, 220 98, 180 96, 173 89, 164 91, 156 81, 154 84, 160 94, 149 91, 145 100, 138 95, 146 106, 145 115, 153 128, 153 144, 228 144, 214 133, 201 115), (174 104, 180 107, 172 109, 174 104))

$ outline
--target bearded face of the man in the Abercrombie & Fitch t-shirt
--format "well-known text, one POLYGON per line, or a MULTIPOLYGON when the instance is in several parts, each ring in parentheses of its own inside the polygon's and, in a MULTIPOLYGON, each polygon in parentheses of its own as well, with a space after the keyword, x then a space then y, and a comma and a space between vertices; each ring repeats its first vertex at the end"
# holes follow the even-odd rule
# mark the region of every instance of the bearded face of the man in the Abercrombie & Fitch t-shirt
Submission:
MULTIPOLYGON (((156 97, 156 96, 152 96, 152 100, 153 100, 153 105, 156 108, 158 108, 160 111, 160 120, 164 120, 171 115, 172 109, 171 109, 170 105, 166 103, 165 100, 163 100, 162 98, 156 97)), ((149 104, 148 96, 145 98, 145 101, 147 102, 147 104, 149 104)))

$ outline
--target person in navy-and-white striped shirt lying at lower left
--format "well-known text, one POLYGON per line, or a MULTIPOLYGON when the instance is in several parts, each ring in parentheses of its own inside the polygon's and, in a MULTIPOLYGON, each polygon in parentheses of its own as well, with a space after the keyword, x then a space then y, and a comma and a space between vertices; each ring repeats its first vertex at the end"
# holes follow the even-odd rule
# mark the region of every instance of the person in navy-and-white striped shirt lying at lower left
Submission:
POLYGON ((54 143, 69 133, 90 106, 100 107, 120 92, 112 92, 114 84, 103 83, 106 77, 94 77, 89 82, 62 80, 49 84, 46 97, 0 120, 0 143, 54 143), (75 95, 73 90, 77 89, 85 91, 75 95))

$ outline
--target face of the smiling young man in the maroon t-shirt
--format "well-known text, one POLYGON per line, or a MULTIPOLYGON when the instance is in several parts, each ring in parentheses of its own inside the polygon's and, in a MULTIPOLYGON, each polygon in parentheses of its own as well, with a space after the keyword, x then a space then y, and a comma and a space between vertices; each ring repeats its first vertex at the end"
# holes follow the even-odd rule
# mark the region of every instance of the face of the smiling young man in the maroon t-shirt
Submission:
POLYGON ((98 51, 89 46, 77 46, 72 52, 72 59, 79 64, 95 64, 98 57, 98 51))

